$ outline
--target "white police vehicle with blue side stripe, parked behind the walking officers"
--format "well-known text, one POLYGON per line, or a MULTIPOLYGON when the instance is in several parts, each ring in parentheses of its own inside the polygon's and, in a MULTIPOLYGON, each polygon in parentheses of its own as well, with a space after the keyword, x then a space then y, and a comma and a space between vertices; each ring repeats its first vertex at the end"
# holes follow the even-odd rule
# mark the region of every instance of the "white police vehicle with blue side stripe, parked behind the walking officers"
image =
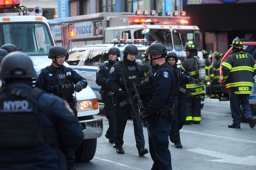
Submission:
MULTIPOLYGON (((93 44, 88 46, 83 46, 80 48, 73 48, 68 58, 67 63, 73 68, 78 74, 85 78, 88 85, 95 92, 97 100, 101 102, 101 95, 99 93, 100 86, 96 84, 96 71, 105 62, 108 61, 107 53, 111 47, 117 47, 120 49, 121 56, 119 60, 122 60, 124 54, 124 48, 127 46, 125 44, 93 44)), ((136 62, 142 64, 142 53, 144 53, 149 46, 143 44, 136 44, 138 48, 138 55, 136 56, 136 62)))

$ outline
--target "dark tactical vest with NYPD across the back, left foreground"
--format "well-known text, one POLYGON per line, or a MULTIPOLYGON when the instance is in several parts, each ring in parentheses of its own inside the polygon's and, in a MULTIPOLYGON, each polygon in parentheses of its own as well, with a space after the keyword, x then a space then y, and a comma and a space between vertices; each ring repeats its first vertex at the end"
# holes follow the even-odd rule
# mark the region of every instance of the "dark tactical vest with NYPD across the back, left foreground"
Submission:
POLYGON ((0 147, 36 147, 42 143, 58 147, 56 129, 37 123, 38 110, 53 122, 51 114, 37 102, 42 93, 38 88, 29 94, 15 88, 0 91, 0 147))

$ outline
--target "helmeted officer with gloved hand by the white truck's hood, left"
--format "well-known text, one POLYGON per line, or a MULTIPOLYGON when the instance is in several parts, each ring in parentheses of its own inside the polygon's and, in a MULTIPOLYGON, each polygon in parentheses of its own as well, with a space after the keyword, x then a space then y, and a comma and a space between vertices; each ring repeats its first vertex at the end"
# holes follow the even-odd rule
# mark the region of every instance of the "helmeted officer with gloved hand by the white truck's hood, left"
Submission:
MULTIPOLYGON (((63 66, 64 62, 68 59, 68 54, 63 47, 51 47, 48 58, 52 59, 52 64, 40 71, 35 87, 65 99, 76 113, 76 98, 73 97, 73 93, 74 91, 80 92, 83 88, 86 88, 86 79, 82 78, 72 68, 63 66), (76 84, 75 87, 73 87, 73 83, 76 84)), ((68 168, 73 169, 75 156, 67 157, 66 159, 68 168)))

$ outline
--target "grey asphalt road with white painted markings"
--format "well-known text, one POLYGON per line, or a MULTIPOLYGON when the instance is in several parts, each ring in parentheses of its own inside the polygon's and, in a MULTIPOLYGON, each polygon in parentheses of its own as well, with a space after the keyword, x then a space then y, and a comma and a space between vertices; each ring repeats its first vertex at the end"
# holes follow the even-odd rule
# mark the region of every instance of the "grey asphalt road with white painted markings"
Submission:
MULTIPOLYGON (((104 115, 104 133, 97 139, 95 157, 86 163, 75 163, 80 169, 150 169, 150 154, 139 157, 135 146, 132 121, 126 124, 125 154, 117 154, 105 138, 108 122, 104 115)), ((230 129, 232 123, 229 101, 206 98, 201 110, 201 123, 185 125, 180 131, 183 148, 170 142, 173 169, 256 169, 256 127, 241 123, 240 129, 230 129)), ((144 128, 146 148, 149 148, 144 128)))

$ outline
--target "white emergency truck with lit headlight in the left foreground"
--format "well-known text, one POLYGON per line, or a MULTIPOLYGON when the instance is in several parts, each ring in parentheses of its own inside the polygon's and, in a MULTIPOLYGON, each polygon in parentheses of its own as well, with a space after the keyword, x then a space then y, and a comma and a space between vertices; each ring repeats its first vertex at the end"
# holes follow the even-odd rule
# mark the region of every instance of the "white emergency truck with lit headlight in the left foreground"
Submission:
MULTIPOLYGON (((69 26, 63 23, 60 28, 62 45, 70 51, 69 26)), ((57 45, 53 40, 47 19, 42 17, 41 7, 35 7, 33 12, 28 12, 26 7, 19 6, 18 0, 0 0, 0 47, 7 43, 14 44, 18 51, 27 53, 37 73, 51 65, 51 59, 47 57, 48 52, 52 46, 57 45)), ((65 65, 69 67, 67 63, 65 65)), ((89 86, 75 93, 75 96, 77 118, 84 135, 84 140, 75 156, 76 161, 86 162, 95 155, 97 138, 101 137, 103 122, 102 118, 94 119, 93 117, 99 113, 99 106, 95 93, 89 86)))

